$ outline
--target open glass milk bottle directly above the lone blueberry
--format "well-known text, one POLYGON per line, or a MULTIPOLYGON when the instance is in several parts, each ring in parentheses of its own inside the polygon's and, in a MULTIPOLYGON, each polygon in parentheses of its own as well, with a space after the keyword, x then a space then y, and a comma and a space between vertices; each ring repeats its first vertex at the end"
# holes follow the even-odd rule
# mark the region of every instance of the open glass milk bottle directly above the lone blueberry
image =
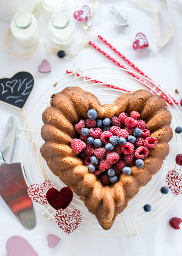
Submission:
POLYGON ((48 23, 50 38, 57 46, 70 46, 73 42, 74 29, 73 18, 66 12, 54 13, 48 23))

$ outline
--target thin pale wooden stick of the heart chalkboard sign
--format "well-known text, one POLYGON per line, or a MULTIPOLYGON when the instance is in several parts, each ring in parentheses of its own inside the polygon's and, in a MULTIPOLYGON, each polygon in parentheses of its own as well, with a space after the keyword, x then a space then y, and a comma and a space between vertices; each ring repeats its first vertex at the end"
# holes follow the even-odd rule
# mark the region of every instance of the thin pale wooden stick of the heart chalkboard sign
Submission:
MULTIPOLYGON (((24 112, 23 109, 21 110, 21 114, 22 114, 24 123, 26 122, 26 129, 29 130, 30 127, 29 127, 29 125, 28 125, 28 122, 26 121, 26 115, 25 115, 25 112, 24 112)), ((36 146, 36 144, 35 144, 35 141, 34 141, 34 139, 33 139, 32 133, 29 131, 29 134, 28 134, 28 135, 29 135, 30 138, 31 138, 31 141, 32 141, 32 144, 33 144, 33 149, 34 149, 34 151, 35 151, 35 154, 36 154, 37 157, 38 157, 38 164, 39 164, 40 170, 41 170, 41 172, 42 172, 43 178, 44 178, 44 180, 47 180, 48 177, 47 177, 47 174, 46 174, 46 172, 45 172, 44 166, 43 166, 43 164, 42 164, 42 160, 41 160, 40 154, 39 154, 39 152, 38 152, 37 146, 36 146)))

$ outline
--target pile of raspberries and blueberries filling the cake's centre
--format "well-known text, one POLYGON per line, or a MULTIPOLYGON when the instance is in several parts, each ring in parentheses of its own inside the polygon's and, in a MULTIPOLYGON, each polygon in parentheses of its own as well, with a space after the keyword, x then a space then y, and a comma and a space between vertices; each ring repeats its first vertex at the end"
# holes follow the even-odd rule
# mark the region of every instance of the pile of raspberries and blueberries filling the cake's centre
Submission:
POLYGON ((142 168, 149 149, 157 146, 157 138, 150 137, 137 111, 102 120, 96 119, 97 111, 90 109, 87 116, 74 125, 80 137, 71 141, 71 148, 105 185, 115 183, 121 172, 130 175, 129 166, 142 168))

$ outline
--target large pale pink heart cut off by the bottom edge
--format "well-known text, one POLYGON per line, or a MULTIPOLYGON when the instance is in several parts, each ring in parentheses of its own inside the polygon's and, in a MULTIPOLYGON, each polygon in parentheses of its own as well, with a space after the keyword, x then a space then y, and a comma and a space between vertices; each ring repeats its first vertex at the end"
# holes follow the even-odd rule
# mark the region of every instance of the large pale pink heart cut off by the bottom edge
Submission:
POLYGON ((21 236, 12 236, 6 242, 9 256, 38 256, 32 246, 21 236))

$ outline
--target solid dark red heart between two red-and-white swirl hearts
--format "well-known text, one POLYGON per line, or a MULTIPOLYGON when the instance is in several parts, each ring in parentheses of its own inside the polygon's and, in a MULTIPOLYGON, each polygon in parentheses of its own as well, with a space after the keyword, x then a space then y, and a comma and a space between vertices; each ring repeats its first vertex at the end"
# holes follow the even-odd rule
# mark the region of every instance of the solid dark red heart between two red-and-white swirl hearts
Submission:
POLYGON ((64 187, 60 191, 55 188, 47 191, 47 200, 56 210, 65 209, 73 199, 73 192, 70 188, 64 187))

